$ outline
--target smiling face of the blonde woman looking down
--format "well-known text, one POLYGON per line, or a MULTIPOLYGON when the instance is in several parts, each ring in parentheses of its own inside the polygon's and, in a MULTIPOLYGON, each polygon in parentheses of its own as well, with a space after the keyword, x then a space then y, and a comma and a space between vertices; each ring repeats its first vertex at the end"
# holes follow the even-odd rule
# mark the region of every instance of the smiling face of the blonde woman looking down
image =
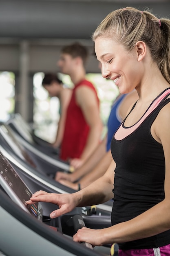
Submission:
POLYGON ((120 93, 128 93, 140 84, 143 66, 137 48, 128 52, 113 39, 100 37, 95 40, 95 52, 102 64, 102 76, 113 80, 120 93))

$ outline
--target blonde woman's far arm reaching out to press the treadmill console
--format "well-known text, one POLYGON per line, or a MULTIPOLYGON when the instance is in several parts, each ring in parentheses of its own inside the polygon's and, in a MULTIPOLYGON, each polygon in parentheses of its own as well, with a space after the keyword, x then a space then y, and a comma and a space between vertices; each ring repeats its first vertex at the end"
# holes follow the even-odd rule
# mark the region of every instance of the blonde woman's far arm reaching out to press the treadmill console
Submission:
POLYGON ((62 214, 68 213, 75 207, 100 204, 113 198, 113 180, 114 180, 115 162, 112 161, 107 172, 98 180, 76 193, 55 194, 45 191, 35 192, 27 204, 33 202, 51 202, 57 204, 59 209, 50 214, 51 218, 56 218, 62 214))

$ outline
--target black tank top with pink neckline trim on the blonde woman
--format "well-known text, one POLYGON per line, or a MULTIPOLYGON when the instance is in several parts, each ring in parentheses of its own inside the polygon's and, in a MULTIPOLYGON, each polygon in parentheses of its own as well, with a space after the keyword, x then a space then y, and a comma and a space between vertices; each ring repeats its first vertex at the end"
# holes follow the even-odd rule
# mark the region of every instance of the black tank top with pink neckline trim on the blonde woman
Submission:
MULTIPOLYGON (((112 225, 135 218, 165 198, 163 147, 152 137, 150 128, 161 108, 170 102, 170 99, 166 99, 169 95, 170 88, 152 101, 134 126, 126 128, 125 119, 113 136, 111 152, 116 168, 112 225)), ((167 244, 170 244, 170 230, 149 238, 121 243, 119 247, 148 249, 167 244)))

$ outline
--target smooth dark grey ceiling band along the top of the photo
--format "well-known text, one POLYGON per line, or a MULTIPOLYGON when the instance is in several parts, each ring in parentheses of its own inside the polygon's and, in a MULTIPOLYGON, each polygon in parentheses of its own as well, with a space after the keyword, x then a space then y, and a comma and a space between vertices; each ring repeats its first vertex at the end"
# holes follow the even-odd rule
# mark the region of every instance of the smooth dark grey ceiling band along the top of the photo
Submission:
POLYGON ((0 40, 89 40, 108 13, 126 6, 170 18, 170 0, 0 0, 0 40))

